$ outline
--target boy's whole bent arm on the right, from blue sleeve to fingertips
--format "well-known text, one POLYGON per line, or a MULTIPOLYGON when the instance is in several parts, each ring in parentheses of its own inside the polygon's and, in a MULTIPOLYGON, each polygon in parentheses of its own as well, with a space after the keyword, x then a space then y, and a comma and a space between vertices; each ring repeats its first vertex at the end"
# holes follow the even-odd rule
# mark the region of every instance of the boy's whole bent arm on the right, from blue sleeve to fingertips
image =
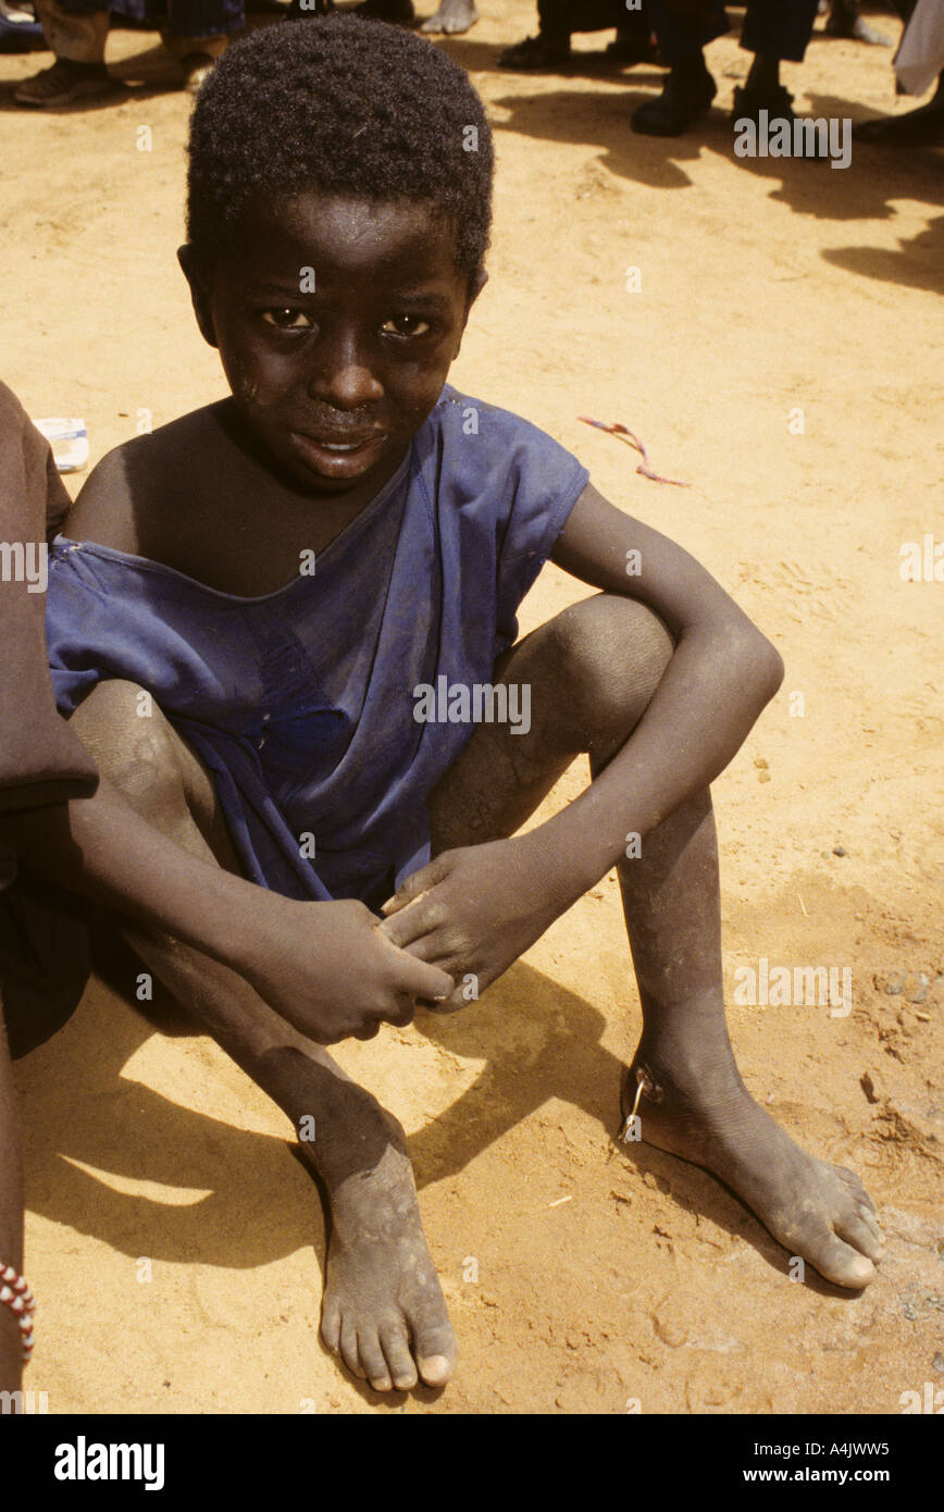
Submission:
POLYGON ((552 559, 651 608, 675 652, 641 720, 578 798, 525 835, 436 856, 384 904, 395 943, 454 975, 474 971, 480 987, 626 854, 629 835, 644 836, 714 782, 782 679, 773 646, 711 575, 595 488, 552 559))

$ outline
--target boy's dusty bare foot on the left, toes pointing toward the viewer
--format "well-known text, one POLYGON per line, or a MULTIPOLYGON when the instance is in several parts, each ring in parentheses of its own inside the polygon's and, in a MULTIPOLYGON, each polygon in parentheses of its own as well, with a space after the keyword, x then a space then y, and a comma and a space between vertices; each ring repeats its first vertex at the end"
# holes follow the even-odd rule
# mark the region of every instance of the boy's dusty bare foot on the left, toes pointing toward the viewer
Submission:
POLYGON ((418 1379, 443 1387, 455 1368, 455 1334, 402 1134, 393 1119, 389 1123, 390 1139, 372 1169, 333 1182, 318 1163, 331 1205, 321 1337, 375 1391, 408 1391, 418 1379))

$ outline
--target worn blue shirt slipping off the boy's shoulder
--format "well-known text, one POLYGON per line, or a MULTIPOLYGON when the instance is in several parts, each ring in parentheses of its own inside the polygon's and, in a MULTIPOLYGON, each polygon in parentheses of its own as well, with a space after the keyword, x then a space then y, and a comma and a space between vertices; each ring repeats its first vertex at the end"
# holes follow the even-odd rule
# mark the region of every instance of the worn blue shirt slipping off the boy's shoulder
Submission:
POLYGON ((418 723, 415 689, 492 680, 585 484, 551 437, 446 386, 315 575, 275 593, 57 537, 59 711, 107 677, 147 688, 210 770, 247 877, 377 907, 428 860, 427 795, 472 732, 418 723))

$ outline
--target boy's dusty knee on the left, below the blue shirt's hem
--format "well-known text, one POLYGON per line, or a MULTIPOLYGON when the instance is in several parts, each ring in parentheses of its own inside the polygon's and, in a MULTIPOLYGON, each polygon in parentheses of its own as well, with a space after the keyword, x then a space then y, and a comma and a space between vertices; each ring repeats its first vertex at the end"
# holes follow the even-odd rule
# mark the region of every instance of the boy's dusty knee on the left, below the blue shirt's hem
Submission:
POLYGON ((180 794, 177 738, 145 688, 116 677, 100 682, 70 724, 133 807, 162 806, 180 794))

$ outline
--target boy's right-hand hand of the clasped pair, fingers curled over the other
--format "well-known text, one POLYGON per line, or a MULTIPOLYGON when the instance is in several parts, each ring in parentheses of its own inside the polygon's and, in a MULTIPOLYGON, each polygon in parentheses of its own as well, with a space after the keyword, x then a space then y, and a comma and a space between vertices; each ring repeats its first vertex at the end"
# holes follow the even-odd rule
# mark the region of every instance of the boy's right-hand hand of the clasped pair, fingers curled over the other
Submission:
POLYGON ((573 901, 531 836, 443 851, 383 906, 383 934, 455 978, 439 1012, 466 1007, 463 978, 484 992, 573 901))

